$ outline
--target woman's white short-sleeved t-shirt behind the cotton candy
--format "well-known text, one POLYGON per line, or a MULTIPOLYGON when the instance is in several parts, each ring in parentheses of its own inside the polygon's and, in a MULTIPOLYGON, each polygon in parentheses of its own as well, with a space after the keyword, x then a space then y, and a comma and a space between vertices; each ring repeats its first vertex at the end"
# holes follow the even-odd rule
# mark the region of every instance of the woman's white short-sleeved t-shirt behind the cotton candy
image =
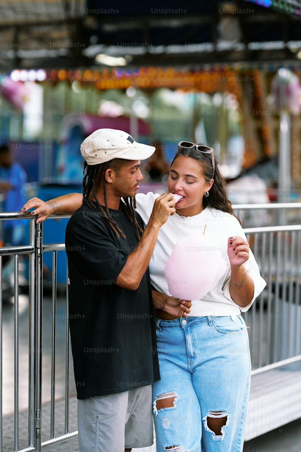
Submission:
MULTIPOLYGON (((137 193, 136 195, 136 210, 144 221, 144 225, 148 223, 153 210, 153 204, 158 196, 161 195, 152 192, 146 195, 143 193, 137 193)), ((261 278, 258 265, 250 250, 250 257, 244 266, 254 281, 254 297, 248 306, 244 308, 238 306, 232 300, 229 292, 231 266, 227 254, 228 237, 240 235, 246 240, 246 236, 241 225, 233 215, 214 208, 206 207, 201 213, 194 215, 194 217, 183 218, 175 213, 161 226, 157 243, 149 263, 152 285, 158 292, 171 295, 164 276, 165 264, 177 240, 192 233, 202 234, 205 224, 207 224, 206 231, 208 231, 208 234, 216 237, 215 243, 222 248, 222 255, 227 262, 227 271, 203 299, 192 300, 190 314, 188 315, 238 315, 241 311, 248 311, 255 298, 263 291, 266 282, 261 278)))

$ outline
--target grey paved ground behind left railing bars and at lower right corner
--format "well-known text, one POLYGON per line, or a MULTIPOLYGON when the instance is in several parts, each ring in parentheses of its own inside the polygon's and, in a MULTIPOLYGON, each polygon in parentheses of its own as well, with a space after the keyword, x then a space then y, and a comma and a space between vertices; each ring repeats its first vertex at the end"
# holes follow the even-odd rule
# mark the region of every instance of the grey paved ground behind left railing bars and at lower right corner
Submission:
MULTIPOLYGON (((14 450, 14 306, 3 309, 3 452, 14 450)), ((51 389, 51 298, 43 301, 42 331, 42 441, 50 438, 50 389, 51 389)), ((72 361, 69 377, 69 431, 77 429, 76 398, 72 361)), ((56 408, 55 435, 64 433, 65 425, 65 297, 57 300, 56 315, 56 408)), ((28 300, 19 299, 19 448, 28 441, 28 300)), ((255 438, 244 445, 244 452, 300 452, 301 419, 255 438)), ((49 452, 77 452, 77 438, 47 447, 49 452)), ((133 452, 155 452, 155 445, 133 452)))

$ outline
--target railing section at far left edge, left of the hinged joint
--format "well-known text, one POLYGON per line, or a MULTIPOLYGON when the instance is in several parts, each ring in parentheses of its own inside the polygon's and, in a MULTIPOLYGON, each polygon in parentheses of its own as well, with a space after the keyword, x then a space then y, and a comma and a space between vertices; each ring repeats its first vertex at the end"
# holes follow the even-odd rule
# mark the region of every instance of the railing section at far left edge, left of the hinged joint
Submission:
MULTIPOLYGON (((0 213, 1 220, 20 218, 24 215, 19 212, 3 212, 0 213)), ((37 324, 41 324, 42 318, 39 319, 38 314, 41 306, 41 288, 40 288, 40 274, 42 272, 42 249, 39 245, 42 244, 42 225, 35 224, 35 218, 28 214, 30 221, 29 230, 29 245, 16 247, 2 247, 0 248, 0 451, 2 452, 2 256, 12 254, 14 255, 14 450, 19 450, 19 324, 18 324, 18 306, 19 306, 19 292, 18 292, 18 277, 19 277, 19 254, 29 254, 29 287, 28 287, 28 301, 29 301, 29 344, 28 344, 28 448, 26 450, 38 450, 37 443, 40 436, 37 419, 41 412, 41 359, 39 353, 36 353, 38 331, 37 324), (30 218, 31 217, 31 218, 30 218), (37 237, 40 237, 40 244, 37 243, 37 237), (37 381, 39 384, 37 384, 37 381), (37 427, 37 428, 36 428, 37 427)))

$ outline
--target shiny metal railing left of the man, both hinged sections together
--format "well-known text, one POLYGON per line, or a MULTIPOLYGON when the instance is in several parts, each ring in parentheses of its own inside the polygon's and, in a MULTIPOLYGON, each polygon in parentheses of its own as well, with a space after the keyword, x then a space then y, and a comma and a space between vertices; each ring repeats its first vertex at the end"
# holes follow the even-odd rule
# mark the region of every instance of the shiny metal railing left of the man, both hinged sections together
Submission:
MULTIPOLYGON (((56 216, 62 218, 62 216, 56 216)), ((29 245, 0 248, 0 452, 3 450, 2 417, 2 256, 14 256, 14 451, 41 451, 43 447, 77 436, 77 430, 69 432, 69 321, 66 302, 65 328, 65 433, 55 437, 55 361, 56 361, 56 262, 57 251, 65 250, 65 244, 42 244, 42 224, 36 224, 37 217, 30 213, 2 212, 0 220, 27 218, 30 222, 29 245), (42 441, 42 255, 51 251, 52 264, 52 325, 51 325, 51 425, 50 438, 42 441), (19 254, 29 255, 28 301, 29 301, 29 344, 28 344, 28 445, 19 448, 19 254)), ((55 217, 53 217, 55 218, 55 217)))

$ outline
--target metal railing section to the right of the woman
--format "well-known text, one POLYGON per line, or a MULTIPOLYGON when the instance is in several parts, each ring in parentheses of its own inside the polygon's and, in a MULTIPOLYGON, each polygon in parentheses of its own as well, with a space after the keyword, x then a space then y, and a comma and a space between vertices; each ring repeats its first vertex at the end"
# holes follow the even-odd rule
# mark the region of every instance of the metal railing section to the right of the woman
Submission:
MULTIPOLYGON (((242 313, 250 325, 252 375, 301 359, 301 202, 232 204, 244 226, 253 212, 266 221, 263 213, 276 212, 273 221, 283 226, 244 228, 250 249, 267 282, 250 310, 242 313), (260 215, 261 213, 261 215, 260 215), (297 223, 287 225, 287 223, 297 223), (299 224, 298 224, 299 223, 299 224), (272 340, 273 339, 273 340, 272 340), (296 360, 296 356, 300 355, 296 360), (282 363, 283 362, 283 363, 282 363)), ((258 217, 257 217, 258 218, 258 217)), ((266 223, 271 223, 269 217, 266 223)))

